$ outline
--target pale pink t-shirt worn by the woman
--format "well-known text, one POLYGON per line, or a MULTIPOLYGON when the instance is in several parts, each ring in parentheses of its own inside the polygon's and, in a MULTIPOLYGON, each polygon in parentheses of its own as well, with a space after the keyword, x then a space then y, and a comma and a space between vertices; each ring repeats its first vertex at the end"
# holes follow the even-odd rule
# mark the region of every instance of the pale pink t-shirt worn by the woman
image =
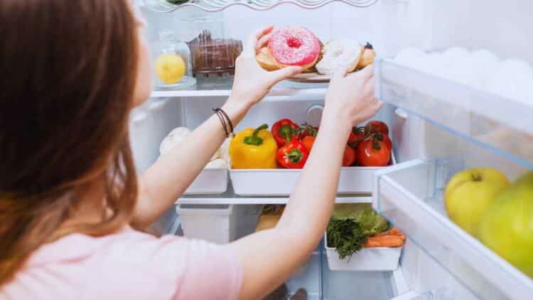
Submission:
POLYGON ((237 299, 241 283, 242 266, 227 247, 125 230, 44 245, 0 299, 237 299))

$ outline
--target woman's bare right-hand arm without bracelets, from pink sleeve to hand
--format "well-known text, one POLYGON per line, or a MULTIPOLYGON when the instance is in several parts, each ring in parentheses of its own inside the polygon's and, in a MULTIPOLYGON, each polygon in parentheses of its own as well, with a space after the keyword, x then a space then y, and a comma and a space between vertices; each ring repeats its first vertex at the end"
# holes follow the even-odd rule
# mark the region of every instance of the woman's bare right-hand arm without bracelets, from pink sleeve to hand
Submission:
POLYGON ((350 129, 382 106, 374 96, 372 78, 372 66, 335 76, 313 151, 278 225, 227 246, 237 252, 244 269, 239 299, 262 299, 316 249, 333 212, 350 129))

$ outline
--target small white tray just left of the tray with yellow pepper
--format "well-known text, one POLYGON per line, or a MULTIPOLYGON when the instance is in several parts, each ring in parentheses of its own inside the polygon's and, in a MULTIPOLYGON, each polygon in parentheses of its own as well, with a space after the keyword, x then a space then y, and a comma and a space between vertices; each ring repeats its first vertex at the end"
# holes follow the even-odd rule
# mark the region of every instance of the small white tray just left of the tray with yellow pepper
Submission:
POLYGON ((227 191, 227 168, 206 168, 191 183, 185 195, 220 195, 227 191))

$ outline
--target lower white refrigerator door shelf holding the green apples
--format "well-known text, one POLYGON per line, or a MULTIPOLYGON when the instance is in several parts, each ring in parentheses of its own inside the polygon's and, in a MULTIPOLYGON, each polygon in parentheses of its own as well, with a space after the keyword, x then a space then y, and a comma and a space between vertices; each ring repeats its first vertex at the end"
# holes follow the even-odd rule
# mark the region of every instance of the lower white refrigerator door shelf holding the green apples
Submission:
MULTIPOLYGON (((443 188, 462 168, 453 159, 415 160, 375 174, 372 205, 407 234, 409 243, 461 284, 451 299, 531 299, 533 280, 512 267, 446 216, 443 188)), ((434 276, 419 265, 419 279, 434 276)), ((446 289, 449 282, 441 282, 446 289)), ((424 286, 424 284, 419 284, 424 286)), ((423 287, 422 287, 423 288, 423 287)), ((431 286, 438 289, 439 286, 431 286)))

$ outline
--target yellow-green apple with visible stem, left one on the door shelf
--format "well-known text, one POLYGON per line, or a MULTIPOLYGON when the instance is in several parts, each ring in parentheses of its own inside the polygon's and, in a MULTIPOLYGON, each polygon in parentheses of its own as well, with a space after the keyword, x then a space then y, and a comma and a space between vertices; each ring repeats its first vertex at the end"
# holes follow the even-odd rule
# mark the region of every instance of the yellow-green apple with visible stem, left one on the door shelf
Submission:
POLYGON ((507 177, 493 168, 471 168, 456 173, 444 193, 448 216, 470 235, 476 235, 483 213, 495 195, 507 186, 507 177))

